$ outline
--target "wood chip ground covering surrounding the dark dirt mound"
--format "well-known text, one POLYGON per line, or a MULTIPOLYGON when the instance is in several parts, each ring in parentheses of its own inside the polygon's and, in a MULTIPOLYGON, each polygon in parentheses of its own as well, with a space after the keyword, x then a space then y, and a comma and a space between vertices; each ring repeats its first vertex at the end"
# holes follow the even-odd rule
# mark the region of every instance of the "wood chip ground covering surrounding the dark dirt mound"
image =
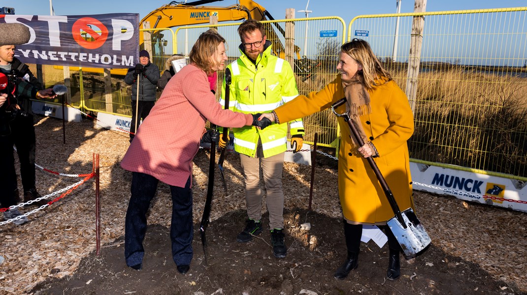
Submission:
MULTIPOLYGON (((64 174, 89 174, 93 154, 100 155, 102 251, 112 246, 112 241, 124 235, 124 216, 130 197, 131 173, 119 166, 129 146, 128 135, 100 129, 93 121, 83 119, 80 123, 66 123, 64 144, 61 120, 36 116, 36 123, 38 165, 64 174)), ((200 150, 194 161, 194 222, 201 219, 207 194, 208 155, 208 151, 200 150)), ((237 156, 228 155, 225 170, 228 195, 222 192, 217 174, 212 220, 245 208, 237 156)), ((310 172, 311 167, 286 163, 287 208, 307 208, 310 172)), ((315 175, 313 210, 340 218, 336 170, 316 166, 315 175)), ((38 168, 36 178, 37 189, 43 196, 81 179, 57 176, 38 168)), ((150 223, 170 225, 169 196, 168 186, 160 184, 150 223)), ((419 191, 415 191, 415 200, 419 219, 434 245, 450 255, 476 263, 496 280, 527 291, 526 213, 419 191)), ((21 209, 22 212, 30 210, 21 209)), ((5 258, 0 265, 0 294, 27 294, 46 278, 69 276, 81 259, 95 250, 94 179, 29 218, 31 221, 22 226, 9 223, 0 227, 0 256, 5 258)))

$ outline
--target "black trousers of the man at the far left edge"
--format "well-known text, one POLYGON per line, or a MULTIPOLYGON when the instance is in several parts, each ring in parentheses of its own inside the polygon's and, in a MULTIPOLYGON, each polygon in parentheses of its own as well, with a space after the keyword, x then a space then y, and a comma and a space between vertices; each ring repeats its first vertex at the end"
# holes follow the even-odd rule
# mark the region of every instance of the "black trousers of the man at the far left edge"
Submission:
POLYGON ((36 136, 33 115, 17 117, 11 124, 11 137, 20 161, 24 192, 35 189, 36 136))

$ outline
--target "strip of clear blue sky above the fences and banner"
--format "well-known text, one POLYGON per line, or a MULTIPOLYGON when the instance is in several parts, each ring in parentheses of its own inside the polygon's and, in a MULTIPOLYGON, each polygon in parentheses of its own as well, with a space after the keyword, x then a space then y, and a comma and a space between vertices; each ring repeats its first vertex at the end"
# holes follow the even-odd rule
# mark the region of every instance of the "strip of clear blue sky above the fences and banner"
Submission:
MULTIPOLYGON (((55 15, 93 15, 105 13, 139 13, 143 18, 149 12, 170 3, 168 0, 52 0, 55 15)), ((184 2, 184 1, 182 1, 184 2)), ((191 2, 190 0, 188 2, 191 2)), ((287 8, 295 8, 296 17, 305 17, 298 12, 306 9, 308 0, 256 0, 275 19, 284 19, 287 8)), ((396 13, 396 0, 309 0, 308 10, 313 11, 309 17, 339 16, 346 24, 358 15, 396 13), (330 5, 328 5, 330 3, 330 5)), ((229 6, 236 0, 223 0, 208 6, 229 6)), ((525 0, 428 0, 426 11, 452 11, 465 9, 486 9, 526 6, 525 0)), ((15 8, 20 15, 50 15, 50 1, 47 0, 0 0, 0 7, 15 8)), ((414 11, 414 1, 402 0, 401 12, 414 11)))

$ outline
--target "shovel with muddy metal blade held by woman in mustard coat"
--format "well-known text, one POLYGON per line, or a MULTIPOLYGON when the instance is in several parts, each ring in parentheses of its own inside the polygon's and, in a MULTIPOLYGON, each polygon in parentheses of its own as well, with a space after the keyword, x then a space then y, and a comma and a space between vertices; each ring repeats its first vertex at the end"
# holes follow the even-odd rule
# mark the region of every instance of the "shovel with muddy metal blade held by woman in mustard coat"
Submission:
MULTIPOLYGON (((355 142, 358 144, 358 146, 363 146, 364 140, 362 140, 362 138, 359 136, 357 127, 355 127, 353 122, 350 120, 349 115, 347 113, 338 114, 335 111, 335 108, 343 105, 345 102, 346 98, 338 100, 336 103, 331 105, 331 110, 335 115, 337 115, 337 117, 343 118, 346 123, 348 123, 349 129, 352 131, 353 137, 355 138, 355 142)), ((379 184, 383 188, 384 194, 386 195, 386 198, 388 199, 388 202, 395 214, 392 219, 387 221, 388 227, 392 230, 399 245, 401 245, 406 259, 414 258, 419 252, 423 251, 428 245, 430 245, 431 239, 426 233, 424 227, 421 225, 421 222, 417 219, 417 216, 415 215, 412 208, 408 208, 403 212, 399 210, 399 206, 397 206, 397 202, 395 201, 395 198, 392 194, 392 190, 390 190, 388 187, 388 184, 386 183, 383 175, 380 173, 379 167, 377 167, 373 157, 370 156, 367 158, 367 160, 369 165, 372 166, 375 176, 377 176, 379 184)))

